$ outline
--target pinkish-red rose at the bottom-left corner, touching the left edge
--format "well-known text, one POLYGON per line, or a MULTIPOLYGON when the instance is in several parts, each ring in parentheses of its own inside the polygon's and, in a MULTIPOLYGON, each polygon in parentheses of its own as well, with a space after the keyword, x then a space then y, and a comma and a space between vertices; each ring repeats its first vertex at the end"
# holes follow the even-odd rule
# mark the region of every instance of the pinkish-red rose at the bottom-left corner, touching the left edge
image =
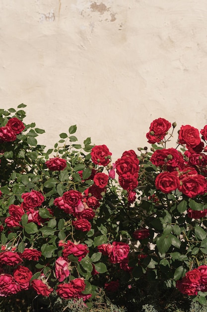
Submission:
POLYGON ((7 297, 20 291, 18 283, 9 274, 0 274, 0 296, 7 297))

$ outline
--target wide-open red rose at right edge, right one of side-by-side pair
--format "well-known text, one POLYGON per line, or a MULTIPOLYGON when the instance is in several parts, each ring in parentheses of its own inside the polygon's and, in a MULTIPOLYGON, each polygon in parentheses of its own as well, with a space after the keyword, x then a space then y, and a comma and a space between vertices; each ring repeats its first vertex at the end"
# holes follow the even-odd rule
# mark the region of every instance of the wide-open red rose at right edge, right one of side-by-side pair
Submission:
POLYGON ((207 180, 201 174, 185 176, 181 182, 179 190, 190 198, 207 191, 207 180))

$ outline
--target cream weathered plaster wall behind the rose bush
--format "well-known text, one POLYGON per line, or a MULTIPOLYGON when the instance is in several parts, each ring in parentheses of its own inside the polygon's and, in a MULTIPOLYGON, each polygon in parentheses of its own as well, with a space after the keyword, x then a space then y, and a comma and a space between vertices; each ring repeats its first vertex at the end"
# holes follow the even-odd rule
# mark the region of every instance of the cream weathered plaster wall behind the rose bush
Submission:
POLYGON ((158 117, 207 124, 206 0, 1 0, 0 12, 0 107, 27 104, 40 143, 77 124, 117 158, 158 117))

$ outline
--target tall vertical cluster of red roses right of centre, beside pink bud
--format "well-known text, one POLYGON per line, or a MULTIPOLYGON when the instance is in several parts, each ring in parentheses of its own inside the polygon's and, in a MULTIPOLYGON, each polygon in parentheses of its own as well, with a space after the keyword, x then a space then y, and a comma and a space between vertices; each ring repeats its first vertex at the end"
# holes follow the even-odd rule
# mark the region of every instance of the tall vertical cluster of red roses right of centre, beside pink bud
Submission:
POLYGON ((135 200, 133 190, 138 186, 139 160, 133 150, 125 151, 115 162, 119 184, 129 193, 130 202, 135 200))

